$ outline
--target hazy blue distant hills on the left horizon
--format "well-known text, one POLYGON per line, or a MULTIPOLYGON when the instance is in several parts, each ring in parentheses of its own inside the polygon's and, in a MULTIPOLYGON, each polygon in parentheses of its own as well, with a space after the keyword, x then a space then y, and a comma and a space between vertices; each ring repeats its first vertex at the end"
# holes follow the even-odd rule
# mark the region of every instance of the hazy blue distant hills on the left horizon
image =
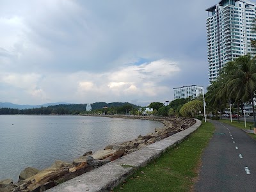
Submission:
POLYGON ((12 102, 0 102, 0 108, 12 108, 12 109, 33 109, 33 108, 41 108, 42 106, 47 108, 48 106, 56 106, 60 104, 69 104, 65 102, 55 102, 55 103, 47 103, 42 105, 18 105, 13 104, 12 102))

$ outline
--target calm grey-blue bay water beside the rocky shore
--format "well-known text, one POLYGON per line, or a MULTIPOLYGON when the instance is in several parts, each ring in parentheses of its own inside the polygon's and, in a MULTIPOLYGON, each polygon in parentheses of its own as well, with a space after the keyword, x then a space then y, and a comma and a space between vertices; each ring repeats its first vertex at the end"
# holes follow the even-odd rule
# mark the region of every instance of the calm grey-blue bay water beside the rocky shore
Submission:
POLYGON ((42 170, 56 160, 133 140, 163 127, 152 120, 95 116, 0 115, 0 180, 19 179, 28 166, 42 170))

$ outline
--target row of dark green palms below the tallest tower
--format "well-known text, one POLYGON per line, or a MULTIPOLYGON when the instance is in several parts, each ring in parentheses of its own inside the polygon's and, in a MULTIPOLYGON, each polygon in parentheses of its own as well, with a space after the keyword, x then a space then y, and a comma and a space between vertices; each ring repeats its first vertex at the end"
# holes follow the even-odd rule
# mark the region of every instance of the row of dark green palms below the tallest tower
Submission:
MULTIPOLYGON (((252 102, 255 98, 256 90, 256 58, 251 54, 246 54, 237 58, 235 61, 229 61, 225 67, 221 68, 220 76, 216 81, 207 87, 205 99, 207 109, 218 115, 218 111, 229 108, 231 102, 243 111, 244 103, 252 102)), ((255 120, 255 109, 252 104, 252 113, 255 120)))

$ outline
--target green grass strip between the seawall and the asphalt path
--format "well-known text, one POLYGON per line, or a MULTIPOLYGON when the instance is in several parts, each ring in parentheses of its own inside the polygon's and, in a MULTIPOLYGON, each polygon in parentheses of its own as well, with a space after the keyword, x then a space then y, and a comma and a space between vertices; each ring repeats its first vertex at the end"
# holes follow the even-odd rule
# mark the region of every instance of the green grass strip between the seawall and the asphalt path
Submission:
POLYGON ((214 125, 202 123, 188 140, 170 148, 154 162, 137 170, 113 191, 190 191, 204 148, 214 133, 214 125))

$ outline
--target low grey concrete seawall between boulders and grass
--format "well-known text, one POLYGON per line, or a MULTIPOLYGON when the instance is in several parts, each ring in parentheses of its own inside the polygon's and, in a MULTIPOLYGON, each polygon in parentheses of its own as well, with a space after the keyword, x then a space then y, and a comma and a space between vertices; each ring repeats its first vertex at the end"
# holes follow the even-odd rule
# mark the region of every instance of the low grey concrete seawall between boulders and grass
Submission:
POLYGON ((159 157, 166 149, 175 147, 192 132, 196 131, 201 124, 200 120, 196 120, 196 124, 184 131, 143 147, 127 156, 120 157, 116 161, 100 166, 91 172, 68 180, 54 188, 48 189, 47 192, 111 191, 111 189, 131 175, 134 170, 147 165, 150 161, 159 157))

